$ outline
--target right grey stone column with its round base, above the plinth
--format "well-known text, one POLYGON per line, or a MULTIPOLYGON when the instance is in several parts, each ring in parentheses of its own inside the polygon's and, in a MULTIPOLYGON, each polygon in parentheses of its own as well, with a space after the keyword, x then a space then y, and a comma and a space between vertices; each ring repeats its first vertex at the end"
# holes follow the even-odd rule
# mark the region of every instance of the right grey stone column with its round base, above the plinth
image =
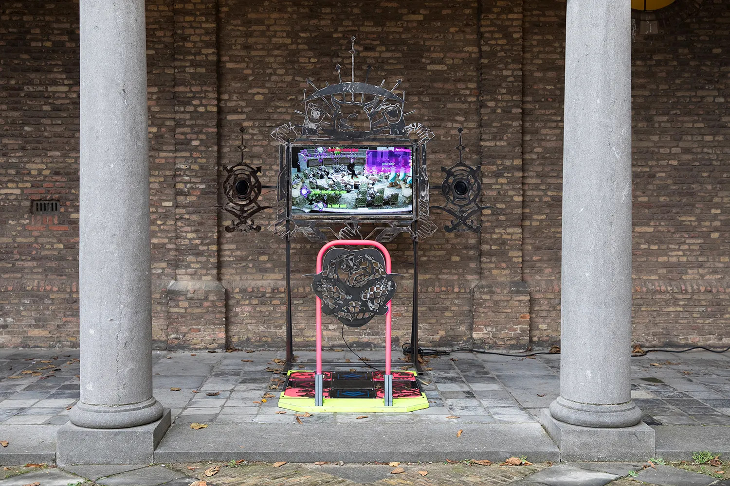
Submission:
POLYGON ((561 388, 550 414, 627 427, 631 401, 631 5, 567 3, 561 388))

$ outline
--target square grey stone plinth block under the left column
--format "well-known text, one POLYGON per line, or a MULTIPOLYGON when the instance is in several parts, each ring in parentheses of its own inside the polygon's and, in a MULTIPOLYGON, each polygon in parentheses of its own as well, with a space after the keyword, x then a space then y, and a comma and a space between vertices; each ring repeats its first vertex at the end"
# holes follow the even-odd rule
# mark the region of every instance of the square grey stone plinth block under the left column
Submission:
MULTIPOLYGON (((74 407, 75 408, 75 407, 74 407)), ((67 464, 150 464, 170 426, 170 410, 144 426, 85 428, 66 423, 56 432, 55 461, 67 464)))

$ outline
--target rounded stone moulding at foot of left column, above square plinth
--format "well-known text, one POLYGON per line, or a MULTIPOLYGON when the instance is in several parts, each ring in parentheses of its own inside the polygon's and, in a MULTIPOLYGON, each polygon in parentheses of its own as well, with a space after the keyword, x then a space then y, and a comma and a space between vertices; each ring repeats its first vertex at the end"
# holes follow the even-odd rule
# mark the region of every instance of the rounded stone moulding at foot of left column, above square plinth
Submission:
POLYGON ((143 426, 162 417, 162 404, 152 398, 137 404, 110 407, 90 405, 79 401, 71 409, 69 418, 74 425, 84 428, 126 428, 143 426))

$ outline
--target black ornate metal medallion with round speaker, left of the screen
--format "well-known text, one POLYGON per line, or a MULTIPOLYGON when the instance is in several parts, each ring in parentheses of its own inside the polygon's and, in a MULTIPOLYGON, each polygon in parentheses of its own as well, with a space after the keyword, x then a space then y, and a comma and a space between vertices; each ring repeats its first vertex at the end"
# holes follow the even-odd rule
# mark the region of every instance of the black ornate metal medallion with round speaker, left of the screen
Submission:
MULTIPOLYGON (((242 137, 244 128, 240 128, 242 137)), ((232 224, 226 225, 226 232, 234 231, 261 231, 261 226, 255 224, 253 216, 264 209, 271 206, 261 206, 258 204, 258 197, 261 196, 261 181, 258 180, 258 174, 261 173, 261 167, 251 167, 243 161, 243 151, 246 146, 241 140, 241 161, 234 165, 226 166, 226 180, 223 181, 223 192, 226 194, 228 203, 223 205, 223 209, 234 217, 232 224)))

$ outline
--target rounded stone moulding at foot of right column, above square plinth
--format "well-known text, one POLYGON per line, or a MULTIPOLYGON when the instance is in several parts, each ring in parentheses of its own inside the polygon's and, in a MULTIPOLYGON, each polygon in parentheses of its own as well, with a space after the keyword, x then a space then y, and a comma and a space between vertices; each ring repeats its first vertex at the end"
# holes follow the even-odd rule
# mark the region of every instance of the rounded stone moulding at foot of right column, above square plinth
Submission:
POLYGON ((641 410, 633 401, 616 405, 593 405, 562 396, 558 396, 550 404, 550 415, 561 422, 583 427, 631 427, 641 421, 641 410))

